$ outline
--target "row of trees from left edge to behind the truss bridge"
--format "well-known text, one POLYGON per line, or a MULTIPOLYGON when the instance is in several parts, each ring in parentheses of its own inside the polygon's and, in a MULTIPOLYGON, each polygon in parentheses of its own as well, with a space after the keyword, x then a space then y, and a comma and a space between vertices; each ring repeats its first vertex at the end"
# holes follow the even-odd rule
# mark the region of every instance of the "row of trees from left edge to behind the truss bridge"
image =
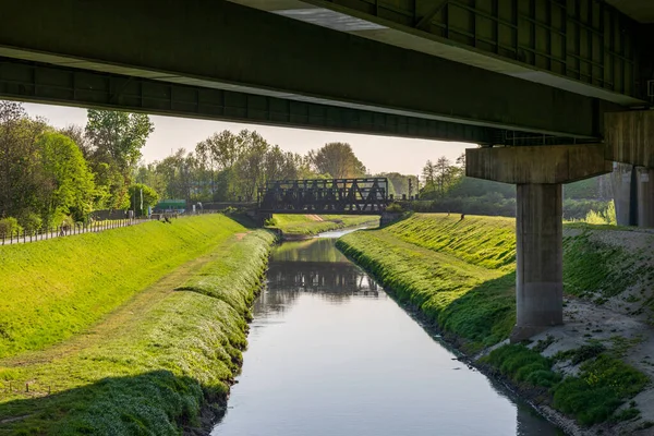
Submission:
MULTIPOLYGON (((368 175, 350 144, 300 155, 249 130, 216 132, 191 152, 145 164, 142 149, 153 132, 147 114, 89 109, 86 125, 56 129, 19 102, 0 101, 3 228, 71 225, 104 209, 142 215, 160 198, 254 201, 269 180, 368 175)), ((376 175, 389 178, 391 194, 409 194, 410 179, 417 185, 397 172, 376 175)))

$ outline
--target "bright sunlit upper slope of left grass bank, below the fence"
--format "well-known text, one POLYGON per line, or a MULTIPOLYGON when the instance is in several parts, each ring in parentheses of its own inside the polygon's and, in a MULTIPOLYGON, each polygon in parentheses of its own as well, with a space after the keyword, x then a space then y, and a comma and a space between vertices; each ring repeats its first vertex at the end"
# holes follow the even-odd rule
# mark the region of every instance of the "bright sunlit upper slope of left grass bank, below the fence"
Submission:
POLYGON ((206 215, 0 246, 0 359, 84 330, 237 231, 206 215))

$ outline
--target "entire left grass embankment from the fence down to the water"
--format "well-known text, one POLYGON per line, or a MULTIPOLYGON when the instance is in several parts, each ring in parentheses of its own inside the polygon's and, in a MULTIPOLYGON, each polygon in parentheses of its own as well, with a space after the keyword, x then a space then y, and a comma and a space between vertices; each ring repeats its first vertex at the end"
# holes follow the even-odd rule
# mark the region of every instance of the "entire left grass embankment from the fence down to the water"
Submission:
POLYGON ((271 242, 205 216, 0 249, 0 434, 197 425, 240 367, 271 242))

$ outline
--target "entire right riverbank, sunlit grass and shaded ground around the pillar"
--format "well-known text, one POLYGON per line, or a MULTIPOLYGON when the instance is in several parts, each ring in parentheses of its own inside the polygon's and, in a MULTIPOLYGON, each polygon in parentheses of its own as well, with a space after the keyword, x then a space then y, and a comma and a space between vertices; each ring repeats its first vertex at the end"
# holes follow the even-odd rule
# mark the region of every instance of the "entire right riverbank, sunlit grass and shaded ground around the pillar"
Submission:
POLYGON ((652 434, 647 432, 654 426, 654 389, 646 380, 652 380, 654 373, 649 361, 654 356, 654 329, 646 308, 651 300, 646 300, 643 283, 652 280, 654 270, 649 269, 647 275, 631 272, 653 265, 654 256, 644 246, 647 242, 639 234, 631 235, 638 242, 634 245, 627 244, 626 237, 617 232, 568 229, 566 256, 569 263, 577 263, 565 276, 573 291, 564 304, 566 324, 531 341, 504 347, 514 324, 512 261, 506 257, 513 245, 504 242, 512 229, 508 221, 473 218, 462 227, 436 214, 416 215, 390 229, 346 235, 337 247, 462 362, 505 386, 566 434, 652 434), (502 226, 507 231, 501 230, 502 226), (620 251, 622 245, 632 251, 620 251), (586 252, 593 255, 585 256, 586 252), (499 268, 492 263, 499 258, 496 253, 507 259, 499 268), (616 286, 608 292, 616 292, 617 287, 622 291, 611 298, 592 286, 598 274, 605 276, 602 268, 616 262, 618 269, 609 269, 616 286), (634 276, 645 280, 635 280, 634 276), (534 372, 543 378, 526 378, 534 372), (620 377, 613 378, 611 374, 620 377), (591 375, 600 377, 598 382, 586 382, 591 375), (608 389, 605 393, 600 390, 604 386, 608 389), (592 400, 578 401, 579 405, 571 408, 569 404, 578 398, 592 400), (595 404, 613 405, 596 409, 595 404))

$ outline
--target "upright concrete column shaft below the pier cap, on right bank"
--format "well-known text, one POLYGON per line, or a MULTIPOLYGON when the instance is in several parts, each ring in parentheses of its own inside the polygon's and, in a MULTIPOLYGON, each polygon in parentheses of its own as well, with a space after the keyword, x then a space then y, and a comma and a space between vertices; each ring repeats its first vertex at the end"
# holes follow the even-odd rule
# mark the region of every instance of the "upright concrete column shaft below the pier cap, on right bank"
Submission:
POLYGON ((519 184, 512 340, 564 323, 561 184, 519 184))

